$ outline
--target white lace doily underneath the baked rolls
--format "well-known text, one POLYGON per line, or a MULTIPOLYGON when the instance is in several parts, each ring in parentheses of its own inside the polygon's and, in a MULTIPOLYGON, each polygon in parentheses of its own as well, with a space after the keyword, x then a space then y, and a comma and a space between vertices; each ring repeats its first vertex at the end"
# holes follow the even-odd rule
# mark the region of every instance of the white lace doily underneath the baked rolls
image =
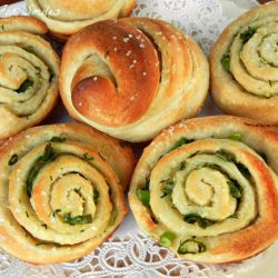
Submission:
MULTIPOLYGON (((138 0, 133 16, 161 18, 172 22, 192 36, 208 53, 224 27, 256 4, 255 0, 138 0)), ((0 7, 0 17, 13 14, 26 14, 23 2, 0 7)), ((202 115, 217 112, 208 100, 202 115)), ((60 112, 54 116, 54 121, 69 121, 69 118, 60 112)), ((109 241, 93 254, 73 262, 36 267, 0 252, 0 277, 232 278, 236 272, 254 268, 262 256, 265 254, 240 264, 221 266, 179 260, 141 234, 129 214, 109 241)))

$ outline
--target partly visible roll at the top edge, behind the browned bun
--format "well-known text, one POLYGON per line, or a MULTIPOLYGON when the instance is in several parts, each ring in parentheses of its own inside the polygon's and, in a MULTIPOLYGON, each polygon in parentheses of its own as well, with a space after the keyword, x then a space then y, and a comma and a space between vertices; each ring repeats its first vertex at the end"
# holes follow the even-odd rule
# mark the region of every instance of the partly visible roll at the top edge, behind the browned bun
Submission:
POLYGON ((42 20, 58 38, 67 39, 80 29, 105 19, 128 17, 136 0, 27 0, 27 10, 42 20))

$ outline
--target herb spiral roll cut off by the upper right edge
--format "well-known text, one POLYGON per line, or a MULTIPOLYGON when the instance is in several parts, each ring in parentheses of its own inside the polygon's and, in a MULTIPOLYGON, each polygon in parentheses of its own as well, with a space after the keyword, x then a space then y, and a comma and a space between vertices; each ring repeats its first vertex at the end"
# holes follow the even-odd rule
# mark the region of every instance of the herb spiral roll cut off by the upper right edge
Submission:
POLYGON ((278 123, 278 2, 226 28, 211 57, 212 98, 227 113, 278 123))

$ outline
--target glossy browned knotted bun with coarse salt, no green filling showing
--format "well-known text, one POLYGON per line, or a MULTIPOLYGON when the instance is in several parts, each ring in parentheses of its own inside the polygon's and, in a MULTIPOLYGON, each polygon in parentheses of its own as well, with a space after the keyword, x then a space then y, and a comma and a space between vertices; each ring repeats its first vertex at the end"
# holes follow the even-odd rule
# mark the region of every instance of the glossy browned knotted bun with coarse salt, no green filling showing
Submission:
POLYGON ((64 47, 60 92, 69 113, 112 137, 146 141, 193 117, 207 95, 208 62, 167 22, 97 22, 64 47))

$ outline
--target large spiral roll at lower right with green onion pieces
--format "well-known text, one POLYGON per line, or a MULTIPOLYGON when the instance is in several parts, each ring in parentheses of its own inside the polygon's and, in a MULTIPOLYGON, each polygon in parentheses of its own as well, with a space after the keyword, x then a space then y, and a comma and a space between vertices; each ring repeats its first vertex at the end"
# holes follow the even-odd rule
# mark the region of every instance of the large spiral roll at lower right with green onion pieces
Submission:
POLYGON ((138 225, 178 256, 242 260, 278 236, 278 133, 235 117, 180 122, 143 151, 129 202, 138 225))

